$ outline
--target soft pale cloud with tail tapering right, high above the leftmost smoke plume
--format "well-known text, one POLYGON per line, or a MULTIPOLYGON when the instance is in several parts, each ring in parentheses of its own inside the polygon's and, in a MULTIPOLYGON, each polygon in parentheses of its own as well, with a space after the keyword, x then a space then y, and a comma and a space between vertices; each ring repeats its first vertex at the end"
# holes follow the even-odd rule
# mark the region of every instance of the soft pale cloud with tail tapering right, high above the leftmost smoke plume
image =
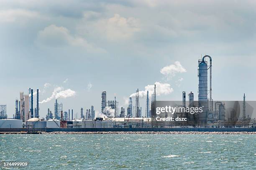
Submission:
POLYGON ((105 53, 102 48, 87 42, 83 37, 73 36, 65 27, 49 25, 38 32, 36 43, 46 47, 62 47, 65 45, 85 48, 92 53, 105 53))

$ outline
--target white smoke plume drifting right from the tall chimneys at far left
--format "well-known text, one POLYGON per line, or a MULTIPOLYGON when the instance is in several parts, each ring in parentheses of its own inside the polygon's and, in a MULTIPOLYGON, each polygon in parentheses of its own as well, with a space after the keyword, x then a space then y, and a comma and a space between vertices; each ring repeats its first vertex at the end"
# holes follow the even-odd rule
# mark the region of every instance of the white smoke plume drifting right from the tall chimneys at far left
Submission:
POLYGON ((76 95, 76 92, 74 90, 71 90, 71 89, 64 90, 63 87, 56 87, 56 88, 54 88, 52 95, 50 97, 48 97, 47 99, 41 101, 40 103, 49 102, 52 99, 58 99, 58 98, 65 99, 67 97, 72 97, 74 95, 76 95))

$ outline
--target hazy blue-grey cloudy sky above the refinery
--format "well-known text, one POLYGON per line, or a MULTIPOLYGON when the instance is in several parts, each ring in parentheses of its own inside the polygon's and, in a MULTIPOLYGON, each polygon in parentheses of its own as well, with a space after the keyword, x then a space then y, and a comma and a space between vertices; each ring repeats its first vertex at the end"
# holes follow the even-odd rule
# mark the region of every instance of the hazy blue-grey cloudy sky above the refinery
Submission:
POLYGON ((0 104, 13 117, 19 92, 39 88, 40 117, 55 99, 79 117, 102 91, 126 108, 138 88, 144 115, 154 84, 157 100, 197 100, 204 55, 214 100, 254 100, 255 18, 253 0, 1 0, 0 104))

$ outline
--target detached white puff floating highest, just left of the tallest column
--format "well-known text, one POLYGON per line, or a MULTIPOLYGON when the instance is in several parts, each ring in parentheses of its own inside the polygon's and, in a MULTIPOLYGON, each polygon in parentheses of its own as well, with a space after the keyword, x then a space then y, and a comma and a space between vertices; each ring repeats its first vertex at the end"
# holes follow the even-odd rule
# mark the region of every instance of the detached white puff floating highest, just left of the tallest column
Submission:
POLYGON ((167 80, 172 79, 177 73, 187 72, 187 70, 180 64, 179 61, 175 61, 174 64, 163 67, 160 70, 161 74, 167 77, 167 80))

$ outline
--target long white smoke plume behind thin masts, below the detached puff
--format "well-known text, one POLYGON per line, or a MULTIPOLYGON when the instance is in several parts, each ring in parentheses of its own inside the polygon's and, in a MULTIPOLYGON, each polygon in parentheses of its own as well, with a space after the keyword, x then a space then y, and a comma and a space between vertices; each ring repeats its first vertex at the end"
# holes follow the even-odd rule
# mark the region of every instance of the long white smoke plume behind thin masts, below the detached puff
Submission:
MULTIPOLYGON (((173 88, 168 83, 155 82, 156 85, 156 95, 168 95, 173 92, 173 88)), ((139 90, 139 97, 146 98, 147 91, 149 98, 154 93, 154 85, 147 85, 143 91, 139 90)), ((136 97, 136 93, 130 95, 130 97, 136 97)))

